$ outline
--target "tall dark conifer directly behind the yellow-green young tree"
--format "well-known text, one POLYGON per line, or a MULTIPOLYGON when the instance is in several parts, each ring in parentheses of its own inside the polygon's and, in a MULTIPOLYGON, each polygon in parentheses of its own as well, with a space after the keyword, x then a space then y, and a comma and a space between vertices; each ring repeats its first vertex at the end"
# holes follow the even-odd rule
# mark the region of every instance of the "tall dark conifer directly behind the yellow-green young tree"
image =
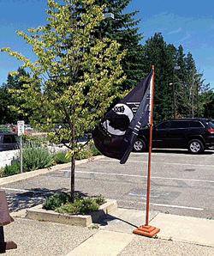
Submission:
MULTIPOLYGON (((134 88, 145 76, 143 71, 145 64, 143 58, 143 47, 140 40, 143 39, 142 34, 139 33, 140 20, 135 19, 135 15, 139 13, 138 10, 132 13, 124 13, 132 0, 95 0, 99 6, 105 4, 104 13, 111 13, 114 19, 104 19, 100 22, 98 30, 95 31, 95 36, 102 40, 104 37, 110 40, 116 40, 119 43, 120 51, 127 51, 126 56, 122 59, 122 70, 127 79, 122 82, 120 90, 129 90, 134 88)), ((81 9, 80 12, 84 11, 81 9)))

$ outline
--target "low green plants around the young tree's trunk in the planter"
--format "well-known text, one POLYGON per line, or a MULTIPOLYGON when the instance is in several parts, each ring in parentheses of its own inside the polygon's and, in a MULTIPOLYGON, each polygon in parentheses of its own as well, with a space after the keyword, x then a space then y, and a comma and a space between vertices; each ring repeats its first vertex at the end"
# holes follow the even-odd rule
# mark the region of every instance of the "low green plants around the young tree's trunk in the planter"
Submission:
POLYGON ((105 199, 101 195, 97 198, 83 198, 80 194, 77 194, 74 203, 72 204, 70 201, 70 194, 62 192, 47 199, 43 208, 68 215, 85 215, 98 210, 99 205, 105 203, 105 199))

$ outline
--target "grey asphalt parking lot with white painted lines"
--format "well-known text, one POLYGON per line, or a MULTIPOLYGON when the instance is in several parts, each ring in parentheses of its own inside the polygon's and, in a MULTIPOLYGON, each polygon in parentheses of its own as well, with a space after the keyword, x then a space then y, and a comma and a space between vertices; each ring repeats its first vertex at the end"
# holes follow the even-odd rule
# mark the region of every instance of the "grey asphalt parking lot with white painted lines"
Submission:
MULTIPOLYGON (((190 155, 187 150, 154 149, 150 209, 213 219, 213 156, 211 150, 190 155)), ((76 167, 75 190, 116 199, 119 207, 146 210, 147 172, 148 153, 132 153, 125 165, 110 158, 87 162, 76 167)), ((2 186, 12 211, 41 204, 51 194, 68 191, 69 187, 69 168, 2 186)))

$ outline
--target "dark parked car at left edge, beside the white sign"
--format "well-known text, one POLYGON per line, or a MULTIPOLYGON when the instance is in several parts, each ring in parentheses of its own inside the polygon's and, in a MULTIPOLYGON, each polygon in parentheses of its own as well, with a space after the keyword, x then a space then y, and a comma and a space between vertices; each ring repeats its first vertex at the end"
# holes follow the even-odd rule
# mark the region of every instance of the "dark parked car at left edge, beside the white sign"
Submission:
POLYGON ((0 132, 0 151, 19 148, 18 136, 15 133, 0 132))

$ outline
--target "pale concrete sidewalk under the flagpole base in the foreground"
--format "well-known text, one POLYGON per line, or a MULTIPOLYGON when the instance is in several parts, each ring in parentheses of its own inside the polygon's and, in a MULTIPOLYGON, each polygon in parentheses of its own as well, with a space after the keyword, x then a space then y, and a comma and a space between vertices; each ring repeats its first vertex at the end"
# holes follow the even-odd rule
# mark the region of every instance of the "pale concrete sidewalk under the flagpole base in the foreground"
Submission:
MULTIPOLYGON (((12 216, 19 216, 16 212, 12 216)), ((22 217, 21 217, 22 216, 22 217)), ((39 222, 15 217, 4 226, 5 241, 17 249, 5 255, 37 256, 130 256, 130 255, 214 255, 214 221, 189 216, 151 212, 150 225, 158 237, 134 235, 145 221, 145 212, 117 208, 90 227, 39 222)))

